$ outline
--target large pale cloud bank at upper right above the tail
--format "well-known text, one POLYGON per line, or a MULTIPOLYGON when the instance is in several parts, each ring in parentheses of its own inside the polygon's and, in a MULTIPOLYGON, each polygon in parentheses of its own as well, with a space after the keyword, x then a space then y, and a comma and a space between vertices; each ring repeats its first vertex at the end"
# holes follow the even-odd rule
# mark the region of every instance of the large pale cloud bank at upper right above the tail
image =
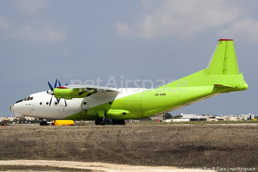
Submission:
MULTIPOLYGON (((245 1, 175 1, 165 0, 162 3, 143 1, 143 10, 132 24, 118 22, 117 34, 137 38, 155 39, 163 37, 179 37, 188 39, 209 29, 230 34, 249 35, 256 31, 256 19, 243 17, 257 8, 257 4, 245 1), (150 5, 152 4, 152 5, 150 5), (251 28, 236 27, 245 24, 251 28), (225 31, 223 31, 225 30, 225 31)), ((214 32, 214 31, 213 31, 214 32)), ((218 33, 219 33, 218 32, 218 33)), ((214 33, 216 35, 216 33, 214 33)), ((257 36, 258 38, 258 36, 257 36)))

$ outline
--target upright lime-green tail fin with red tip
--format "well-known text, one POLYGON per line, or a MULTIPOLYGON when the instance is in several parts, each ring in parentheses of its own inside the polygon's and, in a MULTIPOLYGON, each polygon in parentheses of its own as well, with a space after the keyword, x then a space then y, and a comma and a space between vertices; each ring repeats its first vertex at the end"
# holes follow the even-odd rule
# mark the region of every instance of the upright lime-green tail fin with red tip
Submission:
POLYGON ((208 74, 238 75, 233 40, 220 39, 206 67, 208 74))

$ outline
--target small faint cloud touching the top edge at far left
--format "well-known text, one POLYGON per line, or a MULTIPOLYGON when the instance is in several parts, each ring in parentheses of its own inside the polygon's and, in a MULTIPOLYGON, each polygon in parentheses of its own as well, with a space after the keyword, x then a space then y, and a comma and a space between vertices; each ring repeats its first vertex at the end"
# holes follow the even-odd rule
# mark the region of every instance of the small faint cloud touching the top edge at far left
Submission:
POLYGON ((13 7, 27 14, 38 12, 38 10, 44 9, 48 6, 49 4, 46 0, 17 0, 13 4, 13 7))

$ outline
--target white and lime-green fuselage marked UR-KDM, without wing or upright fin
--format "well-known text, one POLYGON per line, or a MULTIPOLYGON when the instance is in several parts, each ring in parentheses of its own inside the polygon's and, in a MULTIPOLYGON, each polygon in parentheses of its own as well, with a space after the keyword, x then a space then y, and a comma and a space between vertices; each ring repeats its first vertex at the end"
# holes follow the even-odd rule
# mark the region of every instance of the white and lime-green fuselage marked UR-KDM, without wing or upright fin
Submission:
MULTIPOLYGON (((114 92, 97 92, 89 97, 67 99, 67 107, 64 99, 61 98, 58 103, 54 96, 44 91, 13 103, 10 110, 17 117, 30 116, 45 119, 96 120, 104 116, 112 120, 149 118, 220 93, 247 90, 248 85, 243 80, 243 75, 231 76, 234 82, 226 79, 227 82, 222 84, 232 86, 217 85, 217 81, 213 81, 213 78, 218 78, 218 75, 210 75, 211 83, 208 85, 199 83, 201 86, 189 86, 191 81, 185 77, 157 89, 122 88, 114 92), (235 81, 235 78, 238 80, 235 81), (180 86, 180 83, 187 82, 185 79, 189 83, 180 86)), ((203 77, 206 78, 206 76, 203 77)), ((202 77, 199 79, 202 80, 202 77)))

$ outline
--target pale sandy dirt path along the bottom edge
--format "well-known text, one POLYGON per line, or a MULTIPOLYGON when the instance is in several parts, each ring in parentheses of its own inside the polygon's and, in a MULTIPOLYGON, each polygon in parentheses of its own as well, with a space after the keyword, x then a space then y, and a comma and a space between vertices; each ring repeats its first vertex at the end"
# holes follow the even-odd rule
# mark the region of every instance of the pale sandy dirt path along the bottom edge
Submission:
MULTIPOLYGON (((107 172, 186 172, 176 167, 149 167, 149 166, 131 166, 131 165, 117 165, 108 163, 83 163, 74 161, 44 161, 44 160, 11 160, 0 161, 0 165, 50 165, 57 167, 81 168, 92 170, 103 170, 107 172)), ((201 171, 198 171, 201 172, 201 171)))

